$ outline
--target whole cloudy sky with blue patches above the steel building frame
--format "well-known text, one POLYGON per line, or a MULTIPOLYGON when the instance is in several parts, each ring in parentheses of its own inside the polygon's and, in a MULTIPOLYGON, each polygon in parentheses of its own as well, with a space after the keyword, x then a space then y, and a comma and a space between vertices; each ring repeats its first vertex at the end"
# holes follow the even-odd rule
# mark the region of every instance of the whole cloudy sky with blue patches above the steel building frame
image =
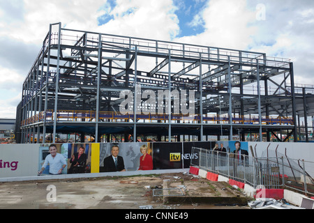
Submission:
POLYGON ((313 0, 0 0, 0 118, 15 118, 22 83, 49 24, 244 49, 291 59, 314 84, 313 0))

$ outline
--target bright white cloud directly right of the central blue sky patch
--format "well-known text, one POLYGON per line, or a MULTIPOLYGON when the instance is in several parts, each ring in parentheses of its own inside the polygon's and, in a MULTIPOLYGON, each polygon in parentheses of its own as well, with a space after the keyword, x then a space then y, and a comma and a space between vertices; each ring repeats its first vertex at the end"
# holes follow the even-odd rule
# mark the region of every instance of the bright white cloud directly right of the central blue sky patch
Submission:
POLYGON ((177 39, 186 43, 197 43, 211 47, 246 49, 251 36, 256 32, 249 23, 254 20, 255 12, 246 8, 246 1, 211 0, 204 8, 202 18, 204 33, 177 39))

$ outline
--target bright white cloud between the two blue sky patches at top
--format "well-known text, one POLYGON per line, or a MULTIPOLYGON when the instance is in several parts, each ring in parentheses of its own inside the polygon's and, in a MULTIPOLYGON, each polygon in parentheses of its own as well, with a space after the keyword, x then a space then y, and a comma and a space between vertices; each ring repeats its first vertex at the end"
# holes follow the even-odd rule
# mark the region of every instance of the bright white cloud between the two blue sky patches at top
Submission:
POLYGON ((99 26, 97 31, 156 40, 171 40, 179 33, 171 0, 117 0, 110 14, 114 20, 99 26), (130 9, 131 13, 126 13, 130 9))

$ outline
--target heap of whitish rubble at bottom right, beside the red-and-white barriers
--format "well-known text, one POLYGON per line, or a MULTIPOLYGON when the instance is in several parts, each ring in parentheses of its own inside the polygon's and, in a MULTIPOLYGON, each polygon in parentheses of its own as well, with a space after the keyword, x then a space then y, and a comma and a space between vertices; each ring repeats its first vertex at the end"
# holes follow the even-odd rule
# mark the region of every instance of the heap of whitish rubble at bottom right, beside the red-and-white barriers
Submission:
POLYGON ((285 199, 272 198, 257 198, 255 201, 248 202, 248 206, 253 209, 304 209, 287 203, 285 199))

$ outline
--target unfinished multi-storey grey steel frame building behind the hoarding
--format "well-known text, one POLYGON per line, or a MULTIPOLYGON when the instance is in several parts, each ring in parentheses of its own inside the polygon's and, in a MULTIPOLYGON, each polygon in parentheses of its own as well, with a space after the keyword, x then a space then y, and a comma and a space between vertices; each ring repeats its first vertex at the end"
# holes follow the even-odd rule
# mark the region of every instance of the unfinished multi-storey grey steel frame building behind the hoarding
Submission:
POLYGON ((282 140, 281 131, 297 141, 297 117, 314 111, 308 89, 296 94, 295 87, 288 59, 50 24, 24 80, 17 142, 33 143, 31 135, 39 139, 49 132, 53 140, 58 132, 93 134, 96 142, 102 134, 117 133, 135 139, 139 134, 197 135, 200 141, 239 134, 245 141, 250 132, 262 141, 267 132, 269 141, 270 132, 282 140), (121 114, 125 90, 133 93, 134 103, 121 114), (179 102, 175 90, 184 95, 179 102), (154 100, 158 91, 170 96, 154 100), (148 101, 156 105, 147 106, 148 101), (184 113, 192 105, 194 112, 184 113))

